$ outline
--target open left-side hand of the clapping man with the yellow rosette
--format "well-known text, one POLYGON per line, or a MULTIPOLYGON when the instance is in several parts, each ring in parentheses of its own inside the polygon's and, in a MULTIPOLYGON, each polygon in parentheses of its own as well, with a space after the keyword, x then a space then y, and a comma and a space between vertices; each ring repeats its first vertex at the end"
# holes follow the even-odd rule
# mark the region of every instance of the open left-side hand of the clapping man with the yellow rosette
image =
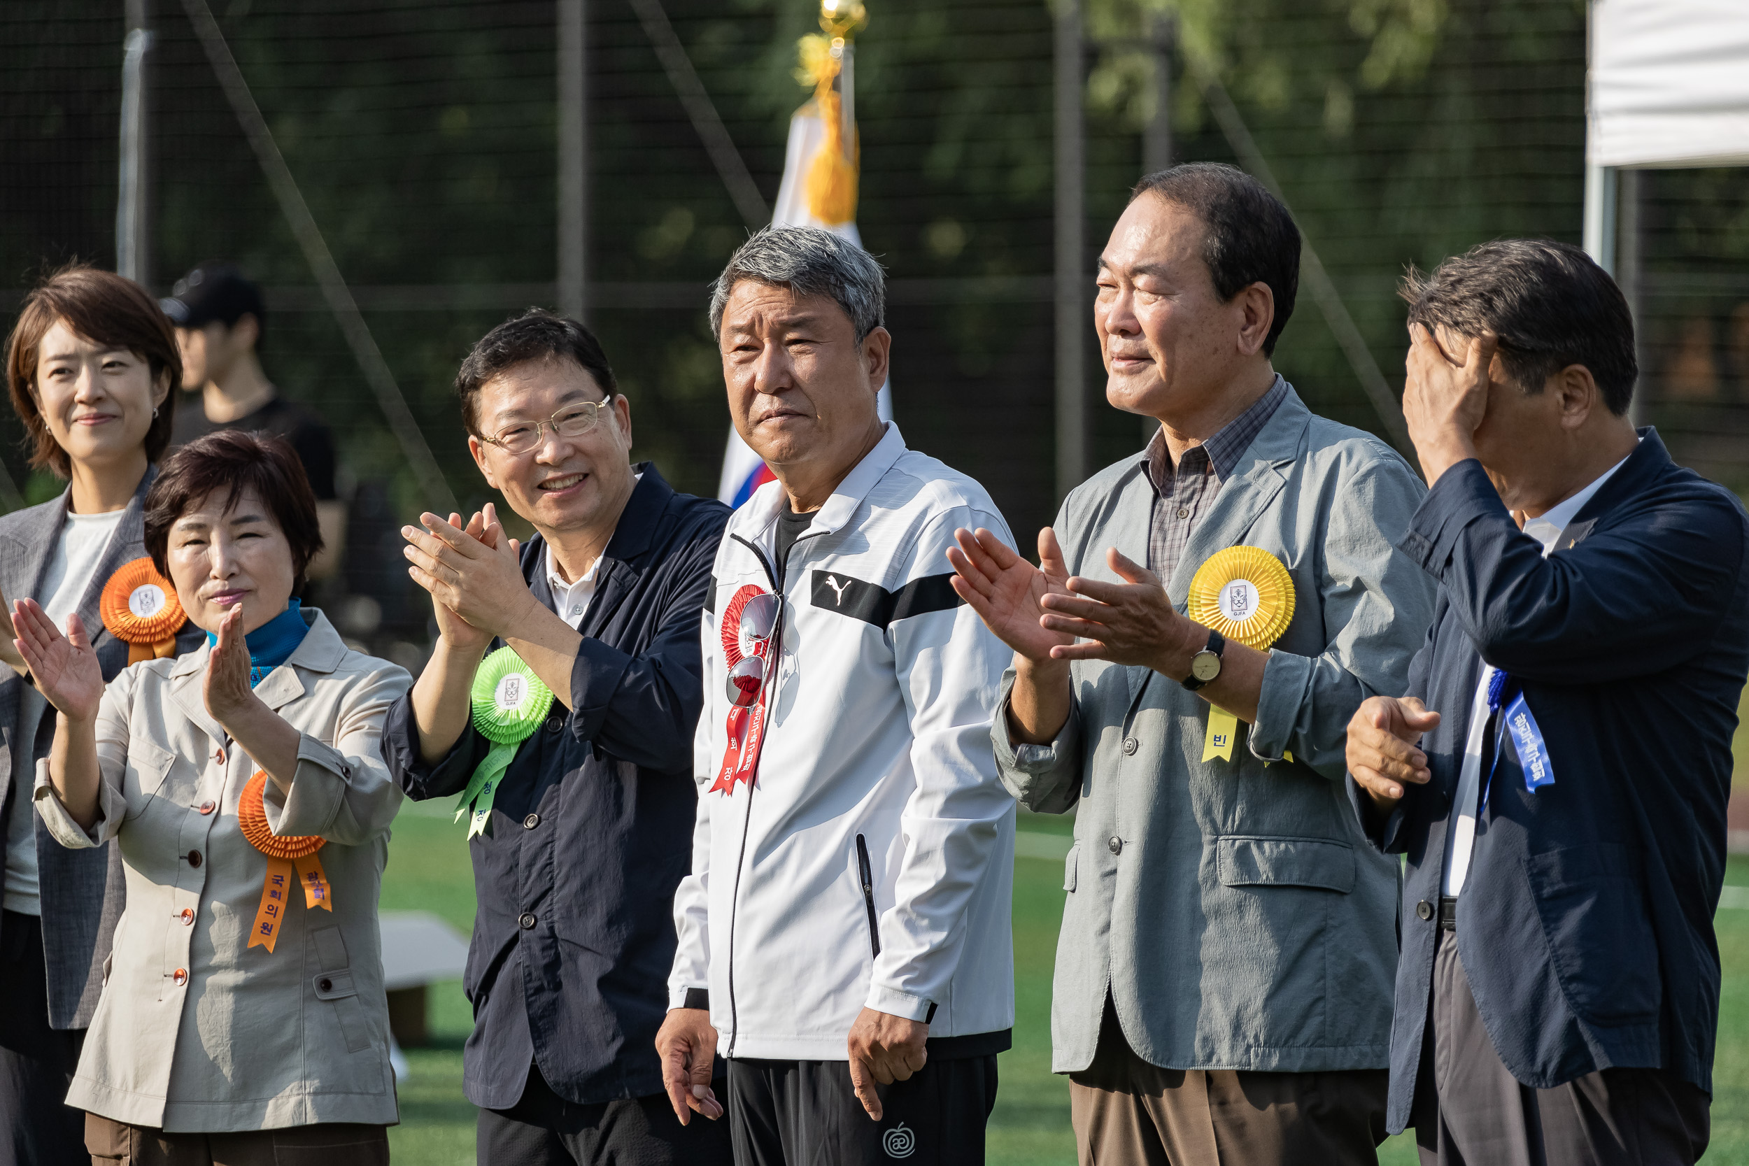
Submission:
POLYGON ((1074 643, 1072 635, 1039 622, 1044 596, 1069 594, 1069 568, 1056 531, 1039 531, 1039 566, 1020 558, 981 526, 953 531, 960 545, 948 547, 953 591, 978 612, 997 640, 1030 661, 1051 659, 1051 649, 1074 643))

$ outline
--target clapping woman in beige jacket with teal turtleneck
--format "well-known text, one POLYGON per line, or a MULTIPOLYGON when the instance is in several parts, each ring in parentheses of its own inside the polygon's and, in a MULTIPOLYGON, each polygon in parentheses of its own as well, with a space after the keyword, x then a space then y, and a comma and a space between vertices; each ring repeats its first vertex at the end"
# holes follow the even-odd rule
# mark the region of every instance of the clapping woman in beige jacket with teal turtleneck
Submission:
POLYGON ((322 535, 283 442, 203 437, 145 509, 157 575, 115 603, 178 601, 208 647, 105 689, 77 615, 65 636, 28 600, 12 621, 58 710, 37 809, 63 846, 117 839, 128 872, 66 1101, 93 1163, 387 1163, 376 900, 401 792, 378 734, 409 677, 290 598, 322 535))

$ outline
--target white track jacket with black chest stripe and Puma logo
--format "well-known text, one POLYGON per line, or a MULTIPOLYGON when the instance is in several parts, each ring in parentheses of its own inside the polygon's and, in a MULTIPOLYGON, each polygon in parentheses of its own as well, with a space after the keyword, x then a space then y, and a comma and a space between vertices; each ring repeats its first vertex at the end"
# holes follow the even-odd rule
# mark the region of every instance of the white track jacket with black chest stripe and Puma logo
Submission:
MULTIPOLYGON (((887 434, 771 563, 782 486, 729 519, 705 610, 693 872, 670 1007, 710 993, 717 1051, 848 1059, 864 1005, 930 1040, 1014 1024, 1014 801, 990 746, 1009 650, 948 586, 957 526, 1013 544, 983 488, 887 434), (785 598, 752 785, 728 748, 724 614, 785 598)), ((735 640, 735 628, 728 629, 735 640)))

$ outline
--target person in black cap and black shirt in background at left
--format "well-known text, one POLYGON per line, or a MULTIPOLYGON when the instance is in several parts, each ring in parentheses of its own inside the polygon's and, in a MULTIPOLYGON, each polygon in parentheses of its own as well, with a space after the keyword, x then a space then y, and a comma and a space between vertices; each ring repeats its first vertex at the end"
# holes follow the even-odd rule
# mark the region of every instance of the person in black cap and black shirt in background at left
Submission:
POLYGON ((310 565, 310 579, 332 575, 346 545, 346 503, 334 491, 334 432, 280 397, 262 372, 257 348, 268 308, 261 287, 233 264, 205 262, 170 292, 159 306, 177 325, 182 388, 199 393, 199 402, 184 400, 177 409, 171 448, 222 428, 283 437, 304 463, 322 523, 324 551, 310 565))

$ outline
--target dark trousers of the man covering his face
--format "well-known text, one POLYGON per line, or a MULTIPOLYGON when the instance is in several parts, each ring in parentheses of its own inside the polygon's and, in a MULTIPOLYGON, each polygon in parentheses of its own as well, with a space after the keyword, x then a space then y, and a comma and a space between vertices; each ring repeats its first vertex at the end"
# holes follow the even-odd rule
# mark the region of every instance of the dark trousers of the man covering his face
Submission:
POLYGON ((1520 1084, 1476 1012, 1457 932, 1439 932, 1411 1114, 1422 1166, 1691 1166, 1707 1149, 1711 1105, 1656 1068, 1520 1084))

